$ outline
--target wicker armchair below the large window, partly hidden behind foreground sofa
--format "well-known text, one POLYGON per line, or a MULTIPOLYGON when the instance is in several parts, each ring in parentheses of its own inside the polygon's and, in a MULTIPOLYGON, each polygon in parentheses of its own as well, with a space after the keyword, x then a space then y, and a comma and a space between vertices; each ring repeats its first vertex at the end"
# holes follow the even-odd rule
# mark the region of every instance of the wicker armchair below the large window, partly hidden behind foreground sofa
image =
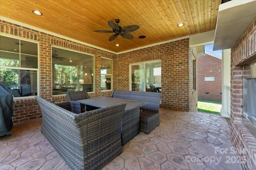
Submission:
MULTIPOLYGON (((82 99, 90 98, 86 91, 78 91, 78 92, 67 92, 68 101, 77 101, 82 99)), ((86 106, 84 104, 80 104, 78 102, 73 102, 72 104, 72 112, 74 113, 82 113, 86 111, 86 106)))

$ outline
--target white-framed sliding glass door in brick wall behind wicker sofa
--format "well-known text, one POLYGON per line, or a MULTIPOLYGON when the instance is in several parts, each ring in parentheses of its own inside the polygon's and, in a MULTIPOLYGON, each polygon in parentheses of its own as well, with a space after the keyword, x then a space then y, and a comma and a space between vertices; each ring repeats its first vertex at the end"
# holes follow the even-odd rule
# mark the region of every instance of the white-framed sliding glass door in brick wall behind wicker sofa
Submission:
POLYGON ((161 60, 129 64, 129 90, 148 91, 152 84, 161 87, 161 60))

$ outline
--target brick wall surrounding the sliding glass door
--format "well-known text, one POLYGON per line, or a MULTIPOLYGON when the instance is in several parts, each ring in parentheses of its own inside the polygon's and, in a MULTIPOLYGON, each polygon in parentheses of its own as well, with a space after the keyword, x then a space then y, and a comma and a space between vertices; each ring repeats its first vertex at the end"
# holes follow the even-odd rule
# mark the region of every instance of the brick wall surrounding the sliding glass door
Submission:
MULTIPOLYGON (((118 55, 116 89, 129 90, 129 64, 161 59, 161 107, 189 111, 189 39, 182 39, 118 55)), ((190 73, 190 74, 189 74, 190 73)), ((191 100, 193 102, 194 100, 191 100)), ((196 101, 197 102, 197 101, 196 101)), ((196 104, 194 104, 196 105, 196 104)))

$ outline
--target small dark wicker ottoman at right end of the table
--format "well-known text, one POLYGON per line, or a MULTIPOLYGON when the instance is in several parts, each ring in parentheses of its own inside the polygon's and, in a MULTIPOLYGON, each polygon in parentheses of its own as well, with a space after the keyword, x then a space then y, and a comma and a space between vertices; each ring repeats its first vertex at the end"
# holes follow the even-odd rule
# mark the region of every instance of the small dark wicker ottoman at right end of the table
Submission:
POLYGON ((140 112, 140 131, 148 134, 159 125, 159 113, 149 111, 140 112))

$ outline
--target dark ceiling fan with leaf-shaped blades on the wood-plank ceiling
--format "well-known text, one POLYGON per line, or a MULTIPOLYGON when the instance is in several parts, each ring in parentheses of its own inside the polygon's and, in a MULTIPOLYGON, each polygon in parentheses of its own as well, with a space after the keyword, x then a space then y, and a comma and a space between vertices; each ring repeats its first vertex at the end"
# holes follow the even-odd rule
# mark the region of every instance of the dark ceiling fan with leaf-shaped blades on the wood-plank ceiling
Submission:
POLYGON ((109 30, 95 30, 94 32, 99 32, 99 33, 115 33, 114 35, 111 35, 109 37, 109 41, 112 41, 114 39, 116 39, 116 37, 118 37, 118 35, 121 35, 121 37, 125 38, 125 39, 133 39, 134 37, 129 34, 130 32, 136 31, 137 29, 140 28, 139 25, 128 25, 125 27, 120 27, 118 25, 118 23, 120 22, 119 19, 115 20, 116 23, 114 23, 113 21, 108 20, 108 25, 110 26, 110 28, 112 28, 113 31, 109 31, 109 30))

